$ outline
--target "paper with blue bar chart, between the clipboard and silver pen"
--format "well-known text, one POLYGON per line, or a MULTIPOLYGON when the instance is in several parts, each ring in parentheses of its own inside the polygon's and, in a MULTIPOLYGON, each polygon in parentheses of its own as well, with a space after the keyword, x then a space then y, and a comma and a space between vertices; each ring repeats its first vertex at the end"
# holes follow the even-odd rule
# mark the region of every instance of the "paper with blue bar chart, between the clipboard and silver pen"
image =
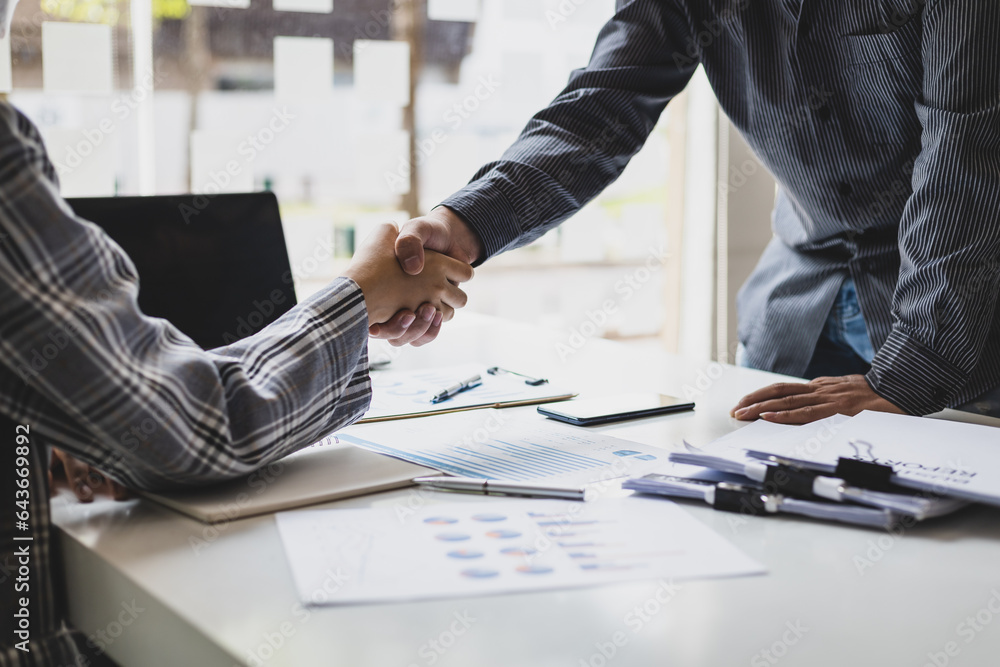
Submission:
POLYGON ((338 437, 455 475, 566 485, 636 475, 667 460, 655 447, 496 410, 355 426, 338 437))

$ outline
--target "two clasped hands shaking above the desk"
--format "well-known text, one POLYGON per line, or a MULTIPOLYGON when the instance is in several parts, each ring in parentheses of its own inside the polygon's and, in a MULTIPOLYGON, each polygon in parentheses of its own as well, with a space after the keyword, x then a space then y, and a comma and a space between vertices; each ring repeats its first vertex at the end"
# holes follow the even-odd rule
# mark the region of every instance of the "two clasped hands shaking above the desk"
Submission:
POLYGON ((468 298, 458 285, 472 279, 483 254, 475 232, 438 207, 402 230, 383 223, 358 247, 344 276, 358 284, 368 307, 369 333, 392 345, 424 345, 468 298))

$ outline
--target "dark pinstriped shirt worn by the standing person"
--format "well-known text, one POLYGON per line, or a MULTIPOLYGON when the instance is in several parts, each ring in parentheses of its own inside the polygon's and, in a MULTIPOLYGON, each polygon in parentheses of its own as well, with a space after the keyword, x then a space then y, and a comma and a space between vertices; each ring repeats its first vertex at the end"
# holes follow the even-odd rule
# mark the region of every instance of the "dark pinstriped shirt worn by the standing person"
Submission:
POLYGON ((739 296, 750 365, 806 369, 854 279, 868 381, 914 414, 1000 384, 1000 3, 628 0, 590 64, 442 204, 487 256, 613 181, 701 65, 780 185, 739 296))

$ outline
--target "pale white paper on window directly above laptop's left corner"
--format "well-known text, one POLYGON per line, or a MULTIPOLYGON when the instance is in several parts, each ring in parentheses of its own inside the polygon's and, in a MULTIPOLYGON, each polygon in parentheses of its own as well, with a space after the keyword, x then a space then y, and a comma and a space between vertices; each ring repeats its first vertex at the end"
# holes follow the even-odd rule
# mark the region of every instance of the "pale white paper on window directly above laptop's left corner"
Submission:
POLYGON ((46 128, 49 159, 63 197, 111 197, 118 167, 117 138, 98 128, 46 128))

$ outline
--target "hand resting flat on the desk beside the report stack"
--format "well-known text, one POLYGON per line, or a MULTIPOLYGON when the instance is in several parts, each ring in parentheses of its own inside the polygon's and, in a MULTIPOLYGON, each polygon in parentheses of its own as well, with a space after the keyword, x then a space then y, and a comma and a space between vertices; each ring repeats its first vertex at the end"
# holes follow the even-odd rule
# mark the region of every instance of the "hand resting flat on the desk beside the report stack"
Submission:
POLYGON ((836 414, 853 417, 862 410, 904 414, 872 391, 865 376, 845 375, 802 384, 772 384, 740 399, 730 416, 744 421, 759 418, 776 424, 808 424, 836 414))

